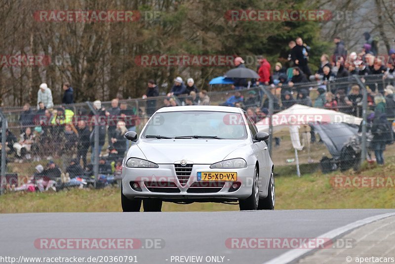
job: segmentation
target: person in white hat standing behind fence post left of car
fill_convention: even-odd
[[[100,154],[101,149],[104,146],[105,140],[106,140],[106,122],[101,122],[100,119],[103,119],[106,116],[106,109],[102,108],[102,102],[100,100],[96,100],[93,102],[93,108],[96,111],[97,116],[95,117],[95,119],[97,119],[96,122],[94,122],[94,126],[99,126],[99,150],[98,153]],[[90,116],[94,116],[94,113],[91,112]],[[109,135],[109,137],[111,138],[111,135]],[[96,151],[95,151],[95,128],[92,129],[92,132],[90,133],[90,146],[91,146],[91,150],[92,150],[92,155],[91,155],[91,162],[92,164],[95,161],[95,155],[96,155]]]

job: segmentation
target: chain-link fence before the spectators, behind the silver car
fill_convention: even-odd
[[[395,153],[393,88],[386,89],[392,81],[351,76],[52,109],[1,108],[1,192],[116,185],[131,144],[124,133],[140,132],[156,110],[176,105],[245,109],[260,131],[271,134],[271,156],[282,173],[347,170],[365,158],[383,163],[386,148],[386,155]]]

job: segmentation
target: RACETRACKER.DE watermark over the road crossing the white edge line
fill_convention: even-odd
[[[353,238],[325,237],[231,237],[225,240],[229,249],[350,249]]]

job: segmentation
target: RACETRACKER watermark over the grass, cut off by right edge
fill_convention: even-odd
[[[395,177],[333,176],[329,183],[334,188],[393,188]]]

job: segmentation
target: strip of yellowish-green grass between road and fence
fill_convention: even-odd
[[[314,172],[297,177],[293,168],[277,168],[276,209],[337,209],[337,208],[394,208],[395,192],[384,188],[335,188],[329,180],[333,176],[393,176],[395,159],[387,165],[364,164],[361,171],[339,171],[323,175]],[[291,169],[290,169],[291,168]],[[309,171],[309,168],[304,168]],[[178,205],[164,203],[162,211],[225,211],[238,210],[237,205],[194,203]],[[117,188],[72,189],[46,193],[7,193],[0,196],[0,213],[28,212],[120,212]]]

